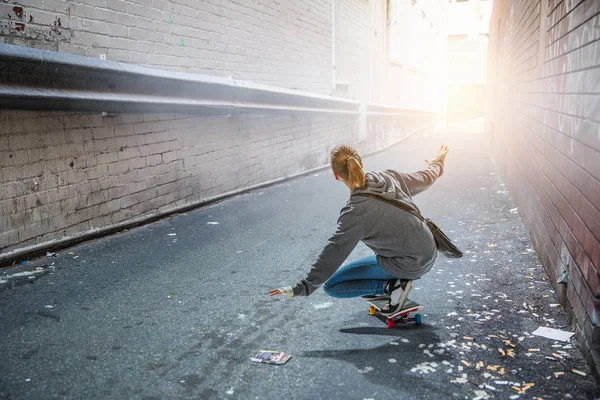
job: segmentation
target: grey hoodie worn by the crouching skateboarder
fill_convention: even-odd
[[[391,169],[366,174],[367,183],[352,190],[342,208],[337,229],[321,251],[308,276],[293,287],[294,296],[308,296],[342,265],[359,241],[377,255],[377,262],[391,275],[416,279],[435,263],[437,249],[429,228],[417,217],[383,201],[357,193],[376,194],[419,211],[412,197],[421,193],[444,172],[441,162],[423,171],[404,173]]]

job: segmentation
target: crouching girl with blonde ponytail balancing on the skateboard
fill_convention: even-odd
[[[442,175],[447,153],[448,147],[441,146],[422,171],[404,173],[388,169],[365,174],[356,150],[346,145],[335,147],[330,155],[333,176],[350,189],[350,199],[342,208],[337,229],[305,279],[293,287],[271,290],[269,295],[309,296],[323,285],[325,293],[332,297],[389,299],[383,315],[400,311],[410,290],[407,284],[423,276],[435,263],[437,248],[433,235],[414,215],[384,201],[356,194],[381,196],[420,213],[412,198]],[[375,254],[339,268],[359,241]]]

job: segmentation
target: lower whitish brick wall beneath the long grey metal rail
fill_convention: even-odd
[[[378,129],[381,123],[373,121],[361,151],[426,121],[401,120],[403,132]],[[348,116],[3,112],[0,252],[324,165],[334,145],[354,143],[356,124]]]

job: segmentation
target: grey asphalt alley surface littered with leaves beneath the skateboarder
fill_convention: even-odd
[[[411,171],[450,146],[445,175],[416,200],[466,254],[415,283],[422,325],[388,329],[361,300],[322,290],[268,297],[335,229],[348,191],[327,171],[0,271],[0,398],[594,398],[577,343],[531,334],[569,330],[566,313],[484,136],[467,128],[364,160]],[[361,244],[349,259],[368,254]],[[260,349],[292,359],[250,362]]]

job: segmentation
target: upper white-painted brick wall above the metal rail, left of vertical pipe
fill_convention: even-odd
[[[0,4],[0,38],[331,93],[331,0],[18,0]]]

